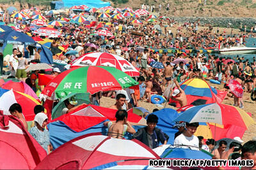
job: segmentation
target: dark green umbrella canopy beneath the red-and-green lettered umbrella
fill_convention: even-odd
[[[54,118],[58,118],[60,117],[61,115],[63,115],[62,113],[62,110],[64,108],[67,108],[67,106],[65,105],[64,101],[69,99],[69,98],[72,98],[74,99],[75,101],[77,101],[77,104],[76,106],[80,105],[80,104],[83,104],[83,103],[86,103],[86,104],[89,104],[91,103],[90,102],[90,94],[88,93],[79,93],[79,94],[68,94],[68,96],[66,97],[63,97],[59,103],[54,106],[53,110],[52,110],[52,120]]]

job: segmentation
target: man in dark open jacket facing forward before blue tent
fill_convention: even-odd
[[[156,127],[158,123],[158,117],[154,114],[150,114],[147,117],[147,127],[138,129],[138,131],[133,135],[133,138],[138,139],[151,149],[157,148],[161,142],[166,145],[169,137],[164,134],[161,129]]]

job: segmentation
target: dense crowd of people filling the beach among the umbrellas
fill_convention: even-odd
[[[206,1],[205,1],[206,2]],[[148,6],[143,8],[149,8]],[[159,6],[160,8],[160,6]],[[169,8],[167,5],[166,8]],[[152,6],[154,11],[154,6]],[[72,14],[72,10],[68,15]],[[68,17],[63,15],[61,17]],[[95,21],[90,26],[81,24],[65,23],[63,26],[55,26],[61,32],[61,36],[51,39],[50,50],[53,59],[63,60],[70,65],[72,60],[89,52],[108,52],[124,57],[131,64],[138,68],[140,76],[136,78],[140,89],[122,89],[109,92],[98,92],[91,96],[92,103],[100,105],[102,96],[113,97],[116,103],[109,108],[118,110],[116,112],[115,122],[105,122],[108,127],[108,136],[113,138],[124,138],[125,132],[133,134],[133,138],[138,139],[150,148],[156,148],[165,145],[169,138],[174,138],[174,146],[183,148],[191,148],[194,150],[206,150],[212,153],[215,159],[254,159],[256,161],[256,141],[248,141],[243,146],[239,140],[229,145],[226,141],[220,141],[217,149],[214,139],[197,138],[194,134],[198,127],[198,123],[180,123],[177,125],[179,132],[175,136],[166,135],[161,129],[156,127],[158,117],[153,114],[143,115],[147,118],[147,126],[139,129],[137,132],[127,121],[127,111],[130,108],[139,106],[139,101],[151,102],[152,94],[163,95],[165,90],[170,90],[170,96],[174,101],[178,101],[180,106],[186,106],[187,99],[184,90],[180,88],[180,82],[189,78],[200,78],[202,80],[217,80],[223,85],[223,91],[228,91],[227,97],[234,98],[234,105],[243,108],[243,97],[236,97],[230,92],[227,85],[229,80],[237,80],[244,92],[252,93],[254,98],[256,87],[256,60],[245,60],[243,57],[234,56],[233,58],[219,56],[209,52],[201,53],[198,50],[207,48],[218,48],[218,46],[234,46],[246,43],[248,34],[239,32],[238,34],[227,35],[226,32],[216,32],[212,27],[204,27],[199,29],[200,20],[196,22],[187,22],[179,24],[172,19],[158,20],[157,22],[146,22],[147,17],[141,17],[142,24],[132,24],[134,18],[127,17],[123,20],[108,18],[107,22],[111,24],[105,25],[102,18],[97,18],[99,13],[88,13],[95,17]],[[60,18],[59,15],[51,15],[49,21]],[[31,30],[29,22],[22,22],[16,18],[8,18],[6,22],[13,22],[24,33],[30,34],[32,37],[45,39]],[[156,29],[159,25],[160,29]],[[112,37],[92,35],[98,29],[107,29],[113,33]],[[158,27],[158,26],[157,26]],[[65,29],[64,29],[65,28]],[[173,28],[177,28],[173,31]],[[87,46],[85,44],[93,43],[95,46]],[[0,54],[3,57],[3,44],[0,44]],[[65,50],[60,52],[59,46]],[[172,48],[177,51],[170,54],[166,50],[159,53],[156,49]],[[193,49],[195,53],[191,53],[188,49]],[[75,50],[77,55],[65,55],[69,50]],[[25,57],[25,51],[29,56]],[[38,85],[38,73],[44,71],[33,71],[26,73],[25,69],[30,63],[40,62],[41,48],[34,46],[13,45],[13,53],[9,60],[3,62],[4,66],[9,69],[4,70],[4,74],[8,78],[19,78],[26,81],[28,85],[35,91],[42,91],[44,87]],[[175,62],[175,60],[180,60]],[[151,62],[159,62],[163,68],[151,67]],[[67,67],[68,69],[68,67]],[[3,67],[1,67],[3,73]],[[58,76],[61,71],[58,68],[52,70],[52,74]],[[172,83],[173,82],[173,83]],[[170,85],[172,85],[170,87]],[[177,87],[174,89],[174,87]],[[63,114],[73,111],[77,108],[75,100],[65,101],[66,108]],[[42,145],[47,151],[51,152],[51,143],[49,141],[49,132],[45,129],[47,124],[47,116],[44,108],[37,106],[35,108],[35,124],[28,127],[26,120],[22,117],[22,108],[19,104],[13,104],[10,107],[10,113],[15,115],[24,124],[26,129],[30,129],[31,135]],[[38,111],[39,110],[39,111]],[[226,148],[228,147],[228,150]],[[255,163],[256,165],[256,163]]]

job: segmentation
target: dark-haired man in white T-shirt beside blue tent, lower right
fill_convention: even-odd
[[[178,146],[179,148],[190,148],[191,150],[199,150],[199,140],[194,135],[198,122],[189,124],[186,122],[186,130],[174,139],[173,146]]]

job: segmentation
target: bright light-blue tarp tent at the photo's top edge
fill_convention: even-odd
[[[64,3],[65,7],[72,7],[72,6],[79,6],[79,5],[83,5],[85,4],[86,6],[90,7],[90,8],[102,8],[105,6],[111,6],[111,4],[109,2],[103,2],[100,0],[62,0]]]

